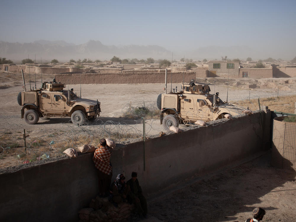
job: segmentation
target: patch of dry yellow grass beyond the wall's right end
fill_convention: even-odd
[[[296,95],[291,96],[280,96],[280,97],[269,97],[261,98],[260,105],[268,106],[268,109],[277,112],[294,113],[295,110]],[[238,104],[242,107],[249,107],[250,110],[258,110],[258,99],[245,99],[240,101],[232,101],[230,103]]]

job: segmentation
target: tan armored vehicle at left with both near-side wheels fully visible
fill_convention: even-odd
[[[20,92],[17,102],[22,106],[21,118],[28,124],[36,124],[39,117],[71,117],[74,124],[82,125],[99,116],[98,100],[79,98],[73,89],[64,88],[64,83],[53,81],[44,82],[40,89]]]

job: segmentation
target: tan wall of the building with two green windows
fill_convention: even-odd
[[[220,63],[219,69],[214,69],[213,64]],[[227,69],[227,63],[233,63],[234,69]],[[209,61],[209,71],[218,77],[238,78],[239,75],[239,62],[227,62],[227,61]]]

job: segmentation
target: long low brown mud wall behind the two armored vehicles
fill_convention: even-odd
[[[141,73],[139,73],[142,71]],[[147,72],[149,71],[149,72]],[[82,74],[56,74],[55,79],[57,82],[70,84],[82,84],[96,83],[164,83],[165,73],[151,72],[153,70],[132,70],[125,73],[82,73]],[[81,76],[82,75],[82,76]],[[169,74],[170,77],[171,74]],[[179,83],[183,81],[183,73],[173,73],[173,82]],[[170,79],[170,78],[169,78]],[[195,73],[184,73],[184,81],[190,82],[191,79],[195,79]],[[169,82],[169,81],[168,81]]]

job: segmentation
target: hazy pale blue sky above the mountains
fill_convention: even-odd
[[[296,1],[1,1],[0,40],[293,50]],[[284,52],[283,51],[283,52]],[[291,52],[290,52],[291,54]]]

